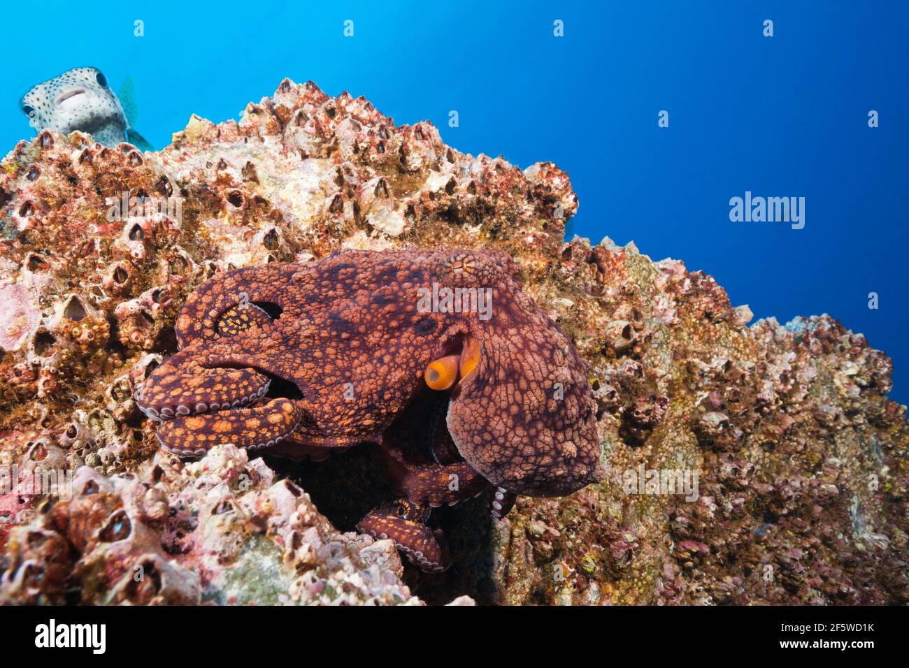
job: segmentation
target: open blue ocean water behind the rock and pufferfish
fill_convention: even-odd
[[[909,400],[907,3],[45,2],[5,25],[0,153],[34,135],[19,96],[79,65],[133,78],[157,148],[191,113],[238,117],[312,79],[462,151],[553,161],[580,199],[572,232],[682,259],[755,317],[832,314]],[[746,191],[804,197],[804,228],[731,222]]]

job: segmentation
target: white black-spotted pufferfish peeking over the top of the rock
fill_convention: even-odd
[[[130,125],[130,117],[135,122],[132,98],[129,77],[118,97],[97,67],[75,67],[33,86],[19,100],[19,107],[28,116],[29,125],[38,132],[48,128],[68,135],[81,130],[107,146],[128,142],[151,151],[153,148],[145,137]]]

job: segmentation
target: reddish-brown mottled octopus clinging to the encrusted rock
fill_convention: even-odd
[[[218,444],[316,461],[378,448],[395,498],[357,524],[425,572],[432,510],[562,496],[603,477],[588,364],[495,250],[342,250],[215,274],[136,404],[175,454]]]

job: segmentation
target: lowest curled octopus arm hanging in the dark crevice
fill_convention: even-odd
[[[426,525],[428,516],[425,505],[395,499],[367,513],[356,528],[374,538],[390,538],[425,573],[442,573],[451,565],[448,544],[440,529]]]

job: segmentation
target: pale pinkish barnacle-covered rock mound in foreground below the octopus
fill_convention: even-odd
[[[6,543],[0,603],[420,603],[391,541],[339,533],[233,445],[136,473],[83,466]]]

